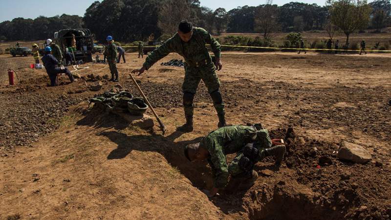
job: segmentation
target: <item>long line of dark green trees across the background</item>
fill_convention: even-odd
[[[93,2],[84,17],[63,14],[1,22],[0,40],[42,40],[60,29],[82,27],[90,29],[101,42],[107,35],[122,42],[145,41],[151,36],[165,40],[184,19],[217,35],[258,32],[269,39],[273,32],[326,30],[332,34],[342,30],[348,36],[368,27],[381,31],[390,25],[390,18],[390,0],[369,4],[365,0],[327,0],[325,6],[300,2],[278,6],[268,0],[263,5],[230,11],[212,10],[201,6],[199,0],[103,0]],[[353,21],[357,19],[360,22]]]

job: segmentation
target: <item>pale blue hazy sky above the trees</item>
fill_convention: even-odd
[[[40,15],[52,17],[56,15],[80,15],[83,16],[88,6],[95,0],[0,0],[0,22],[11,21],[14,18],[23,17],[35,19]],[[273,0],[274,4],[282,5],[290,1],[298,0]],[[305,3],[317,3],[324,5],[326,0],[299,0]],[[231,10],[238,6],[257,6],[264,4],[266,0],[200,0],[202,6],[212,9],[223,7]]]

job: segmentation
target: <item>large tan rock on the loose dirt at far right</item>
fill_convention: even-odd
[[[354,163],[367,163],[372,159],[369,152],[360,145],[344,141],[337,154],[339,159]]]

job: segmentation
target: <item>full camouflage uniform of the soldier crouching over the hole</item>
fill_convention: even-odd
[[[246,144],[254,143],[259,154],[256,161],[265,156],[264,149],[270,148],[272,142],[266,129],[257,131],[256,128],[244,125],[233,125],[219,128],[210,132],[202,139],[201,145],[209,151],[208,162],[215,176],[214,187],[221,189],[227,184],[228,176],[242,177],[245,171],[239,161],[243,157],[243,149]],[[228,165],[226,154],[238,153],[234,160]]]

